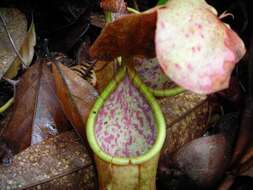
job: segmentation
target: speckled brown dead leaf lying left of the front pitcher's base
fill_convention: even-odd
[[[73,131],[30,146],[0,176],[1,190],[97,189],[92,158]]]

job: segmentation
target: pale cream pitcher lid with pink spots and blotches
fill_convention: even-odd
[[[243,41],[204,0],[168,1],[157,11],[155,36],[156,55],[166,75],[196,93],[227,88],[235,64],[245,54]]]

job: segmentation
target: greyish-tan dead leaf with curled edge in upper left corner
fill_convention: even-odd
[[[36,44],[35,27],[32,21],[27,31],[27,20],[25,15],[17,9],[1,9],[2,18],[6,23],[10,37],[22,60],[17,56],[11,44],[10,37],[4,30],[4,23],[0,22],[0,78],[14,78],[17,75],[21,63],[28,67],[34,55]]]

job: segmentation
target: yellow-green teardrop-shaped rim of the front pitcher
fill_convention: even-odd
[[[138,91],[146,99],[154,118],[153,128],[155,130],[156,137],[150,143],[150,147],[148,147],[147,150],[140,155],[136,154],[128,156],[127,154],[110,154],[108,151],[105,151],[102,148],[101,142],[98,142],[96,136],[95,126],[98,119],[99,110],[104,106],[110,95],[117,89],[118,84],[125,79],[126,73],[128,73],[129,80],[133,83],[135,88],[138,88]],[[97,98],[87,121],[86,133],[91,149],[100,159],[118,165],[140,164],[159,154],[166,137],[166,123],[159,104],[156,102],[156,99],[150,93],[148,88],[142,83],[134,70],[123,66],[115,76],[114,80],[108,84],[103,93]]]

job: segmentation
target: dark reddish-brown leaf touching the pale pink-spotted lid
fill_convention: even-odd
[[[133,14],[105,26],[90,48],[93,58],[113,60],[118,56],[155,56],[156,12]]]

